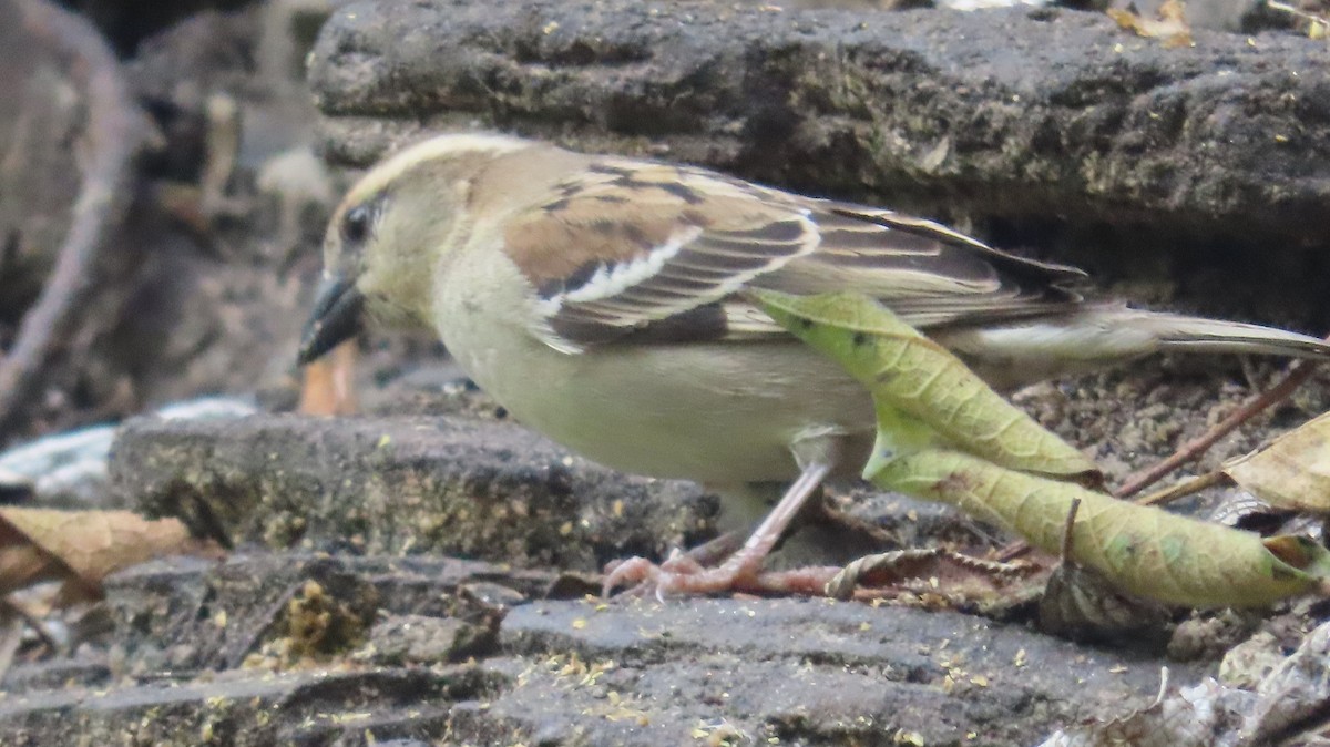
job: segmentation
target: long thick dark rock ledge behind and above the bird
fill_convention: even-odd
[[[497,128],[932,215],[1325,245],[1323,45],[1194,36],[1065,9],[368,3],[332,15],[310,80],[358,165]]]

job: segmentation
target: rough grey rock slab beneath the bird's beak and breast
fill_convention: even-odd
[[[629,477],[511,423],[456,417],[128,423],[121,500],[270,548],[440,553],[598,570],[712,530],[689,482]]]

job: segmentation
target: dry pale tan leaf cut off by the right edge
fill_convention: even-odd
[[[1330,512],[1330,412],[1229,461],[1224,473],[1273,506]]]

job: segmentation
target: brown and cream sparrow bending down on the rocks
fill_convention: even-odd
[[[701,482],[757,517],[718,565],[618,564],[606,589],[739,589],[806,500],[854,477],[868,392],[753,298],[853,291],[999,389],[1157,351],[1330,358],[1297,332],[1129,308],[1073,267],[942,223],[714,170],[443,133],[372,166],[334,211],[298,360],[364,320],[432,331],[513,417],[606,467]]]

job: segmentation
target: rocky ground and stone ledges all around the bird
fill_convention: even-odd
[[[77,54],[32,33],[37,5],[0,0],[0,90],[19,104],[0,112],[0,389],[23,380],[5,362],[80,221],[68,195],[90,177],[69,144],[101,121]],[[122,572],[102,605],[60,621],[55,649],[27,641],[3,679],[3,744],[1035,744],[1150,704],[1165,666],[1173,689],[1198,683],[1257,638],[1273,666],[1326,614],[1180,613],[1073,643],[1041,633],[1032,603],[606,602],[588,597],[604,562],[713,537],[714,497],[524,431],[428,340],[363,343],[362,416],[289,412],[340,169],[440,128],[915,210],[1085,266],[1138,303],[1323,331],[1322,41],[1193,31],[1194,47],[1169,48],[1033,7],[81,9],[150,126],[130,129],[144,138],[117,177],[124,203],[61,343],[23,396],[0,391],[0,445],[129,417],[92,489],[37,500],[177,516],[233,552]],[[1120,481],[1278,370],[1152,360],[1016,400]],[[1325,384],[1196,469],[1325,412]],[[259,412],[141,415],[217,392]],[[1003,542],[946,508],[831,498],[890,546]]]

